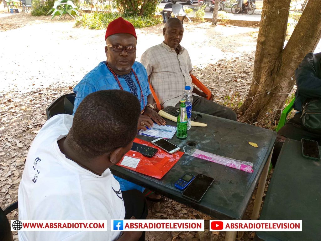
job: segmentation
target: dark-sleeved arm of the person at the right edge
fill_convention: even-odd
[[[321,98],[321,79],[317,77],[312,53],[308,53],[295,70],[295,79],[299,95]]]

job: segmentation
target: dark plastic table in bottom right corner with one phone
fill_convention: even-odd
[[[302,220],[302,232],[256,232],[261,239],[320,240],[321,161],[303,157],[300,141],[284,141],[260,220]]]

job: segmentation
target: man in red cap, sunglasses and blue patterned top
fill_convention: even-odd
[[[141,115],[138,119],[138,129],[146,130],[146,127],[153,125],[153,121],[158,125],[165,125],[165,120],[154,110],[146,69],[135,61],[137,36],[134,26],[123,18],[118,18],[108,24],[105,40],[107,61],[100,62],[74,88],[76,94],[74,113],[80,102],[90,93],[120,89],[131,92],[140,101]],[[116,176],[115,178],[120,183],[122,191],[144,190],[134,183]]]

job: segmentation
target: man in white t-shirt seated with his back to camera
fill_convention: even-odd
[[[20,220],[145,219],[138,190],[120,191],[109,167],[137,133],[140,104],[129,92],[89,94],[74,116],[49,119],[34,139],[18,191]],[[142,232],[19,231],[24,240],[145,240]]]

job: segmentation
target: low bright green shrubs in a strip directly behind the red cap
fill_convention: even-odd
[[[80,19],[76,20],[76,26],[88,27],[90,29],[103,29],[107,28],[107,25],[120,17],[118,13],[102,13],[102,12],[94,12],[94,13],[85,13],[81,16]],[[121,16],[127,21],[131,22],[135,28],[144,28],[150,27],[153,25],[157,25],[161,23],[160,18],[154,17],[140,17],[140,16]]]

